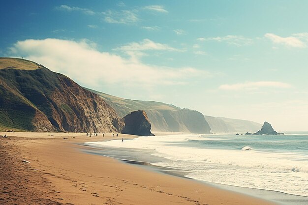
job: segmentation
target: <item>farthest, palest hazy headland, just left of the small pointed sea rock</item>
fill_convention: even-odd
[[[226,117],[212,117],[204,116],[211,127],[211,131],[214,133],[244,133],[244,132],[256,132],[261,124],[243,120],[232,119]]]

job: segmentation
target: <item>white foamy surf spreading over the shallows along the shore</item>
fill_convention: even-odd
[[[307,156],[294,152],[272,153],[253,149],[243,152],[244,148],[251,148],[248,146],[242,150],[222,150],[174,145],[196,138],[204,140],[198,135],[173,135],[138,137],[125,140],[124,143],[114,140],[87,144],[155,149],[155,156],[171,161],[154,165],[191,171],[187,175],[190,178],[308,196]],[[212,140],[211,136],[205,139]]]

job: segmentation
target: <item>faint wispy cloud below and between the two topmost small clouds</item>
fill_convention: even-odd
[[[129,10],[107,10],[102,14],[105,15],[104,21],[110,24],[134,24],[139,21],[136,13]]]

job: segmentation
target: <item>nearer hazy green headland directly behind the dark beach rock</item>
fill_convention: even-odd
[[[88,89],[101,96],[120,117],[136,110],[144,110],[152,124],[152,131],[191,132],[209,134],[211,128],[203,115],[194,110],[154,102],[129,100]]]

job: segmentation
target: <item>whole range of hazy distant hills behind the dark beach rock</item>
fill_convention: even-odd
[[[181,109],[162,102],[123,99],[92,89],[88,90],[101,96],[120,117],[139,109],[146,111],[153,131],[245,133],[255,132],[261,126],[259,123],[248,120],[212,116],[204,116],[206,121],[204,122],[201,119],[202,114],[194,110]]]

